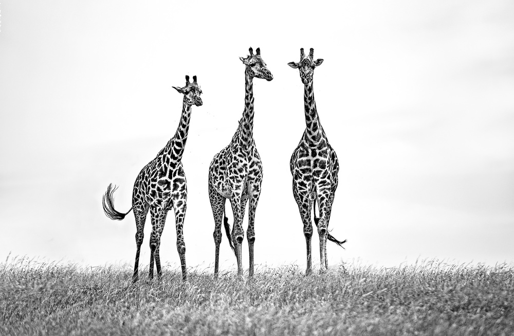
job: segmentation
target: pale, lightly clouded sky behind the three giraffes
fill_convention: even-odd
[[[134,217],[108,219],[102,194],[119,185],[116,208],[131,207],[138,172],[178,126],[172,86],[196,75],[184,234],[188,267],[212,271],[208,167],[242,115],[251,46],[274,77],[254,80],[258,270],[306,264],[289,172],[305,119],[287,63],[301,47],[324,59],[314,92],[340,163],[329,229],[348,242],[328,244],[329,263],[514,262],[512,2],[3,1],[0,14],[0,260],[132,264]],[[161,262],[178,270],[173,223]],[[148,219],[143,265],[150,231]],[[226,237],[220,260],[235,271]]]

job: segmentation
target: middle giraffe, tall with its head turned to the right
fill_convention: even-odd
[[[209,198],[212,214],[214,216],[214,243],[216,246],[214,276],[218,273],[219,244],[222,240],[222,222],[224,222],[230,247],[237,259],[237,275],[242,276],[241,245],[244,238],[243,217],[246,202],[248,206],[248,249],[250,253],[249,276],[253,276],[253,244],[255,242],[254,218],[255,209],[259,202],[262,183],[262,162],[253,139],[253,78],[263,78],[267,81],[273,79],[261,58],[261,50],[257,48],[256,54],[249,48],[250,55],[240,60],[245,68],[245,110],[239,121],[230,144],[221,152],[214,155],[209,166]],[[234,224],[230,234],[230,225],[225,214],[225,201],[230,200]]]

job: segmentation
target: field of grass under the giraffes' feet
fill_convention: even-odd
[[[234,273],[0,265],[0,335],[513,335],[514,268],[437,261],[384,269]],[[144,268],[143,270],[146,270]]]

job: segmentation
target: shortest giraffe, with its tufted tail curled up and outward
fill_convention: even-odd
[[[177,250],[182,266],[182,279],[186,281],[186,244],[182,233],[187,205],[186,175],[182,168],[182,154],[186,146],[191,119],[191,105],[202,104],[201,90],[193,76],[193,82],[186,76],[186,86],[175,87],[175,90],[184,95],[182,101],[182,115],[175,135],[168,141],[166,147],[160,150],[157,156],[141,169],[137,175],[132,194],[132,208],[126,213],[114,209],[113,194],[116,186],[109,184],[102,198],[105,215],[111,219],[122,220],[131,210],[136,218],[136,262],[134,264],[133,282],[139,278],[139,252],[143,242],[143,228],[146,214],[150,210],[152,218],[152,234],[150,236],[150,272],[149,278],[154,276],[154,260],[157,276],[161,276],[159,246],[164,222],[168,211],[175,211],[175,225],[177,230]]]

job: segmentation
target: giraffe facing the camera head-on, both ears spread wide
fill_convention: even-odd
[[[335,239],[328,231],[328,221],[332,212],[334,194],[337,188],[339,162],[332,146],[328,143],[325,131],[321,126],[313,91],[314,68],[321,65],[323,59],[314,60],[314,49],[310,48],[306,56],[300,49],[300,62],[288,65],[300,70],[300,78],[304,84],[304,104],[306,129],[293,151],[289,168],[292,174],[292,192],[295,197],[300,216],[303,221],[303,234],[307,243],[307,270],[311,273],[311,247],[313,236],[310,211],[314,205],[314,222],[318,227],[320,239],[320,273],[328,268],[326,240],[331,240],[342,247],[346,242]],[[319,205],[319,217],[316,217],[316,203]]]

